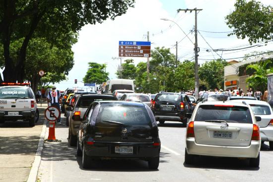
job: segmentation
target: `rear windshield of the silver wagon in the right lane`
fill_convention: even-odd
[[[248,107],[201,105],[194,121],[223,120],[235,123],[252,123]]]

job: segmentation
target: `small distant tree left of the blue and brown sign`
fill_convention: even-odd
[[[108,80],[108,74],[104,71],[106,65],[96,62],[88,62],[89,68],[83,78],[84,83],[97,83],[101,84]]]

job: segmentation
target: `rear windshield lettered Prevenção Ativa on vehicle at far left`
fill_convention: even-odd
[[[2,87],[0,88],[0,98],[31,98],[31,94],[28,88]]]

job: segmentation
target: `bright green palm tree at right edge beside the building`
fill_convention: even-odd
[[[254,69],[254,74],[246,79],[249,87],[254,90],[259,89],[264,93],[268,85],[267,74],[273,72],[273,67],[269,67],[268,64],[272,64],[272,61],[261,61],[257,64],[250,64],[247,66],[247,70]]]

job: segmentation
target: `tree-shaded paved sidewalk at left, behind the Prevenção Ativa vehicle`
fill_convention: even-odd
[[[47,104],[40,106],[40,119],[34,127],[27,121],[0,124],[0,182],[27,181],[45,121]]]

